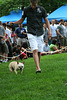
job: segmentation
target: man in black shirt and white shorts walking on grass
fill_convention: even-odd
[[[47,19],[46,10],[38,5],[38,0],[30,0],[30,6],[24,9],[22,18],[14,24],[22,23],[27,17],[27,29],[28,29],[28,39],[30,47],[33,51],[33,58],[36,64],[36,73],[41,73],[39,66],[41,52],[43,50],[43,24],[42,18],[44,18],[45,23],[48,27],[49,34],[51,35],[50,24]],[[12,22],[10,22],[11,24]]]

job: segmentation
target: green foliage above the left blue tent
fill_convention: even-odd
[[[3,0],[0,2],[0,16],[8,15],[12,10],[17,10],[22,6],[29,5],[29,0]]]

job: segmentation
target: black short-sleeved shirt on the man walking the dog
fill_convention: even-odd
[[[43,34],[42,18],[47,17],[46,10],[37,5],[36,9],[32,9],[31,6],[27,7],[23,11],[22,18],[27,17],[27,30],[28,33],[41,36]]]

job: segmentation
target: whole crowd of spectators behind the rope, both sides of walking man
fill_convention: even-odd
[[[67,46],[67,22],[64,22],[63,19],[60,22],[51,20],[50,27],[52,36],[49,36],[47,25],[43,24],[43,51],[41,55],[65,52],[65,49],[60,49]],[[15,28],[13,25],[0,21],[0,55],[0,62],[33,57],[27,38],[27,30],[23,24],[19,24]]]

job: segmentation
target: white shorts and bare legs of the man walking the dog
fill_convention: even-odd
[[[33,51],[33,58],[34,62],[36,64],[36,72],[41,72],[39,63],[40,63],[40,57],[43,48],[43,36],[34,36],[32,34],[28,34],[28,39],[30,43],[31,50]]]

